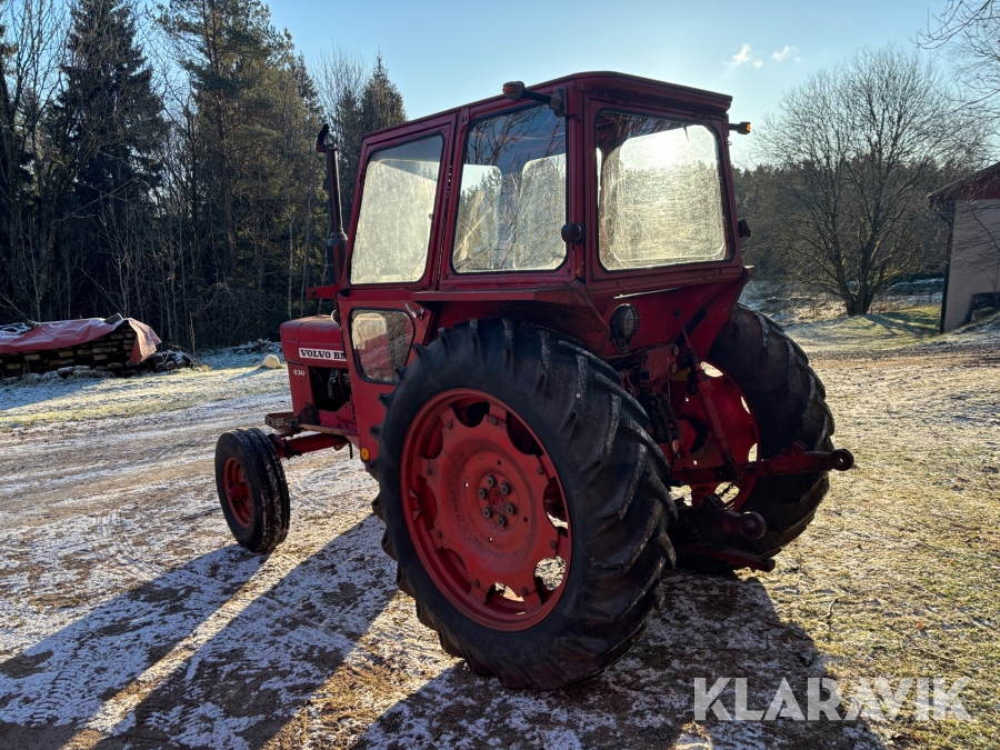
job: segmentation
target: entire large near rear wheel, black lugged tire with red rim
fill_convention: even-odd
[[[470,321],[384,399],[374,510],[400,588],[442,647],[516,688],[623,656],[672,564],[668,467],[599,359],[548,331]]]

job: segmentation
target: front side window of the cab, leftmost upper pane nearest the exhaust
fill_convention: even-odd
[[[433,136],[369,157],[351,283],[406,283],[423,277],[443,147],[444,139]]]

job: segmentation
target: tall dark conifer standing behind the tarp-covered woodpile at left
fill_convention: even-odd
[[[133,13],[121,0],[71,8],[66,86],[53,117],[71,178],[62,254],[78,258],[97,282],[81,290],[97,314],[109,302],[127,314],[140,302],[149,197],[162,172],[163,103],[136,42]]]

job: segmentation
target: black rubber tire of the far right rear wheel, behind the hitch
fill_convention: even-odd
[[[806,352],[778,323],[742,306],[716,338],[708,356],[742,390],[760,434],[758,458],[773,458],[799,441],[807,450],[833,450],[833,416],[827,391]],[[702,532],[698,543],[771,558],[799,537],[830,488],[826,471],[760,477],[741,512],[760,513],[767,532],[757,540]],[[678,540],[680,541],[680,540]],[[732,566],[680,549],[678,564],[718,572]]]

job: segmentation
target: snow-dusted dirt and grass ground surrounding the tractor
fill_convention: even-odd
[[[376,486],[346,451],[287,464],[292,530],[277,552],[232,543],[212,447],[282,407],[283,374],[208,406],[0,432],[0,747],[991,747],[998,359],[817,358],[858,468],[806,537],[761,578],[671,574],[632,652],[547,694],[440,651],[396,590]],[[884,723],[694,722],[693,680],[730,676],[761,709],[786,678],[803,711],[811,677],[850,691],[859,677],[969,676],[973,721],[904,706]],[[732,710],[731,686],[722,697]]]

